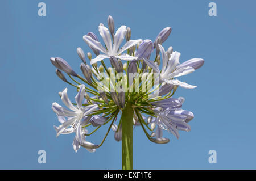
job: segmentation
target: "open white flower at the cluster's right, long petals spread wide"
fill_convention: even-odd
[[[168,58],[167,53],[165,52],[164,48],[160,44],[159,44],[159,49],[162,54],[162,60],[163,60],[163,67],[161,71],[159,70],[158,65],[156,65],[153,61],[143,58],[148,66],[150,66],[153,70],[159,73],[160,75],[159,81],[163,81],[171,85],[177,85],[187,89],[195,88],[196,86],[192,86],[192,85],[189,85],[188,83],[181,82],[178,79],[174,79],[176,77],[180,77],[182,75],[187,75],[189,73],[192,73],[193,71],[195,71],[195,69],[193,69],[191,66],[186,66],[186,67],[179,66],[179,59],[180,59],[179,52],[173,52],[171,54],[171,57]]]

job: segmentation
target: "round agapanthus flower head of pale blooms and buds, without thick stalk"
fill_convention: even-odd
[[[119,122],[117,118],[127,105],[133,110],[133,120],[130,121],[133,121],[134,127],[141,126],[152,142],[166,144],[170,141],[163,137],[163,130],[170,131],[177,138],[179,130],[190,131],[188,122],[194,115],[181,108],[184,98],[176,99],[173,96],[177,87],[196,87],[177,78],[199,69],[204,60],[192,58],[180,63],[179,52],[173,51],[172,47],[165,50],[163,43],[171,33],[170,27],[160,31],[154,42],[148,39],[131,40],[131,29],[126,26],[115,31],[112,16],[108,17],[108,27],[102,23],[98,26],[104,44],[100,43],[93,32],[83,37],[95,54],[92,58],[92,53],[87,53],[89,62],[86,62],[84,51],[77,48],[77,54],[82,60],[80,69],[83,77],[63,58],[50,59],[57,68],[57,76],[77,90],[75,102],[69,99],[67,88],[59,92],[67,108],[57,103],[52,104],[52,110],[61,124],[59,127],[54,126],[57,136],[75,133],[75,151],[82,146],[94,152],[103,144],[110,129],[115,132],[115,140],[121,141],[124,118],[121,116]],[[126,43],[121,46],[124,39]],[[111,65],[109,68],[106,61]],[[64,73],[73,82],[68,81]],[[85,139],[108,123],[109,129],[101,144],[93,144]],[[94,127],[90,133],[89,127]]]

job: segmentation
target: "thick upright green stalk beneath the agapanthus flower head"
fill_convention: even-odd
[[[133,169],[133,107],[126,104],[122,112],[122,169]]]

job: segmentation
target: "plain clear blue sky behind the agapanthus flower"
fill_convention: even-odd
[[[256,169],[255,128],[255,1],[49,1],[46,16],[38,16],[41,1],[1,1],[1,149],[0,169],[121,169],[121,142],[110,132],[104,145],[89,153],[73,151],[74,134],[56,138],[59,125],[52,102],[57,92],[73,87],[55,74],[50,57],[63,57],[80,73],[76,48],[90,49],[87,32],[99,36],[98,24],[112,15],[115,28],[131,28],[132,39],[155,40],[162,28],[172,33],[163,43],[181,52],[181,62],[204,58],[203,68],[182,77],[197,85],[179,88],[183,108],[195,114],[191,132],[172,134],[166,145],[134,131],[134,169]],[[210,2],[217,16],[209,16]],[[117,29],[116,29],[117,30]],[[107,128],[92,142],[100,142]],[[217,151],[217,163],[208,151]],[[46,150],[46,164],[38,163]]]

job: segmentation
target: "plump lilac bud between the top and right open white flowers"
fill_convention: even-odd
[[[136,52],[136,56],[138,57],[137,60],[142,60],[142,58],[148,58],[153,50],[153,42],[151,40],[143,40]]]

